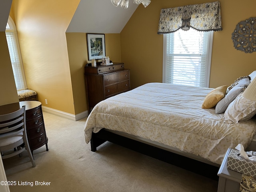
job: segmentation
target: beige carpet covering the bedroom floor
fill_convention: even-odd
[[[49,151],[3,160],[11,192],[216,192],[218,182],[107,142],[97,152],[84,142],[86,119],[44,112]],[[207,171],[207,170],[206,170]],[[18,185],[18,184],[28,185]],[[36,186],[36,182],[50,182]],[[33,185],[33,186],[31,186]]]

